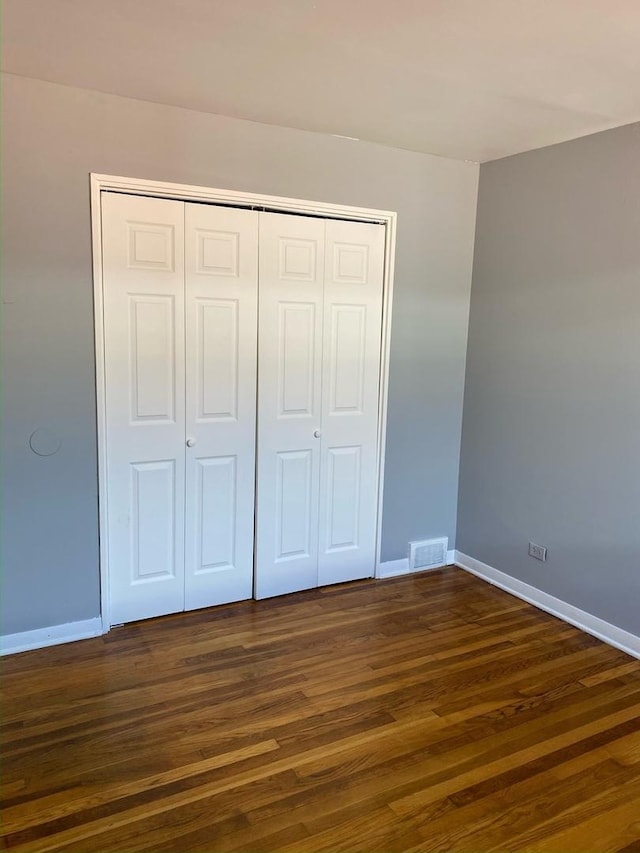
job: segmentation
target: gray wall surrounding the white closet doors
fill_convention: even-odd
[[[3,83],[3,633],[99,612],[92,171],[398,211],[382,558],[453,547],[478,167]],[[29,449],[38,427],[58,453]]]

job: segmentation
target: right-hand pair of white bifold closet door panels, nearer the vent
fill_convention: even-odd
[[[260,218],[257,598],[373,574],[384,228]]]

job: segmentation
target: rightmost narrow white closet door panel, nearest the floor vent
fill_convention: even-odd
[[[328,220],[319,585],[375,568],[384,227]]]

